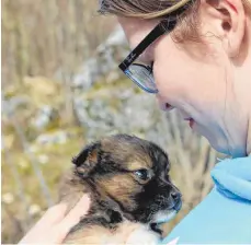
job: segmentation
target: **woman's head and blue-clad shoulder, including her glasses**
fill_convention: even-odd
[[[232,156],[163,243],[251,243],[251,0],[102,0],[100,11],[117,15],[134,49],[125,74]]]

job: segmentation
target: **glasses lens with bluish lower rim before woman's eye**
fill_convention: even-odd
[[[150,68],[139,63],[132,63],[125,73],[142,90],[149,93],[158,93]]]

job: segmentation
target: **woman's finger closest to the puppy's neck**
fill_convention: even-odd
[[[81,217],[88,213],[90,207],[90,198],[84,195],[79,202],[69,211],[69,213],[61,221],[64,230],[69,231],[73,228],[81,219]]]

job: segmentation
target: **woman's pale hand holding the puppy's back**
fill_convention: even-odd
[[[49,208],[19,244],[60,244],[80,218],[85,215],[90,206],[88,196],[66,214],[67,205],[59,203]]]

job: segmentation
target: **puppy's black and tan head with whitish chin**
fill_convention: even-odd
[[[80,178],[130,221],[163,223],[181,208],[168,156],[149,141],[127,135],[107,137],[83,149],[73,163]]]

